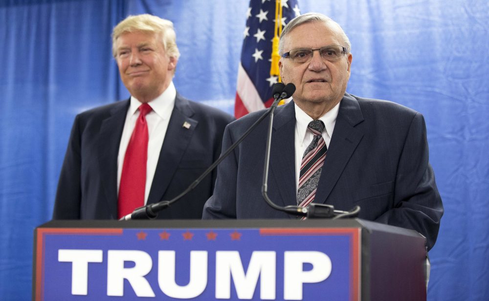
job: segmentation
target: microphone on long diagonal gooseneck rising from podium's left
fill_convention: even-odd
[[[289,86],[291,85],[291,86]],[[187,189],[185,189],[181,194],[178,194],[176,197],[174,197],[171,200],[160,200],[157,203],[153,204],[148,204],[139,208],[134,209],[134,211],[128,215],[125,215],[121,217],[119,220],[131,220],[131,219],[154,219],[156,216],[158,216],[158,212],[164,210],[167,207],[170,207],[173,203],[178,201],[181,197],[183,197],[185,194],[188,194],[192,189],[194,189],[199,183],[207,176],[210,172],[212,172],[218,165],[219,163],[222,162],[230,153],[233,151],[243,140],[246,138],[253,129],[255,129],[258,124],[265,119],[265,117],[270,114],[272,110],[275,110],[277,107],[278,103],[285,98],[289,98],[292,96],[292,94],[295,91],[295,86],[293,84],[289,84],[285,86],[283,83],[277,83],[273,85],[272,88],[272,94],[274,101],[270,108],[267,109],[266,112],[263,113],[260,118],[258,118],[250,127],[247,129],[243,135],[235,142],[233,143],[226,151],[224,151],[221,156],[211,164],[192,184],[190,184]]]

